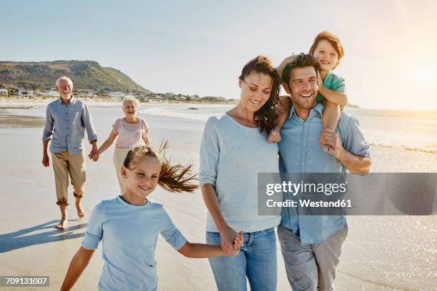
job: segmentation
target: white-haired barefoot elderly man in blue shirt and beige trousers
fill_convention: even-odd
[[[76,210],[79,218],[85,217],[81,198],[84,197],[85,160],[84,160],[84,130],[92,145],[89,158],[97,153],[97,135],[94,130],[91,114],[84,101],[72,96],[73,82],[70,78],[61,77],[56,81],[59,99],[47,106],[46,126],[43,133],[44,167],[49,167],[47,148],[51,140],[50,151],[56,184],[56,204],[61,209],[61,222],[57,228],[67,227],[68,215],[66,207],[69,205],[68,188],[69,175],[76,198]]]

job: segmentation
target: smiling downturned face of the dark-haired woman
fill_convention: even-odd
[[[249,73],[238,81],[241,88],[241,104],[250,112],[258,111],[270,98],[272,80],[264,73]]]

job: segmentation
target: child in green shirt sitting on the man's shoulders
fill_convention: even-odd
[[[318,70],[318,96],[316,101],[323,102],[325,105],[322,116],[323,127],[331,128],[335,131],[338,119],[340,118],[340,108],[343,108],[348,103],[344,79],[332,73],[344,56],[343,46],[337,36],[328,31],[323,31],[314,39],[309,53],[316,58],[320,66]],[[293,58],[294,56],[289,56],[278,66],[278,73],[281,76],[283,69],[288,63],[293,61]],[[290,113],[290,106],[287,103],[281,105],[283,108],[280,108],[279,124],[268,136],[268,141],[272,143],[281,141],[279,131]],[[328,151],[330,149],[323,147],[323,150]]]

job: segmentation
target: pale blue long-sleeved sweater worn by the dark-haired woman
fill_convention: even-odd
[[[278,145],[267,133],[228,116],[206,121],[200,150],[200,183],[215,187],[226,223],[237,232],[276,227],[281,215],[258,215],[258,173],[278,173]],[[206,230],[218,232],[208,213]]]

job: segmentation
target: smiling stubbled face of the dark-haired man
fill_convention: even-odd
[[[288,88],[293,106],[296,110],[309,110],[316,106],[318,93],[317,74],[313,66],[304,68],[293,68],[290,75]]]

